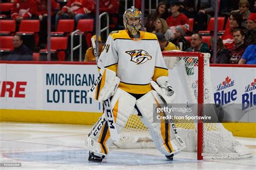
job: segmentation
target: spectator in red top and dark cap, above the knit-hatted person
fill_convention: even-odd
[[[170,10],[172,15],[166,19],[168,26],[189,24],[187,16],[180,12],[180,2],[172,1],[170,4]]]

